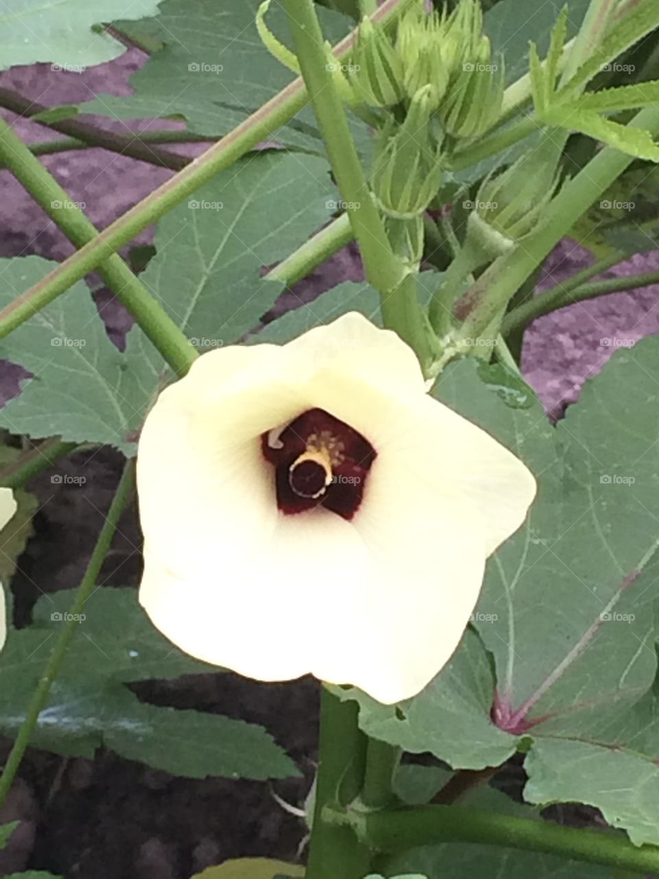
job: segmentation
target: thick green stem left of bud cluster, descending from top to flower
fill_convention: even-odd
[[[282,5],[329,163],[342,199],[351,206],[346,213],[359,246],[366,280],[380,293],[382,321],[414,348],[422,363],[428,362],[431,350],[416,299],[416,285],[407,280],[408,272],[392,250],[371,196],[343,102],[324,62],[315,6],[312,0],[282,0]]]

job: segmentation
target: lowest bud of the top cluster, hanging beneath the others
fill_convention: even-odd
[[[437,194],[440,144],[431,132],[429,85],[416,92],[405,121],[389,120],[375,142],[373,194],[384,214],[408,220],[423,214]]]

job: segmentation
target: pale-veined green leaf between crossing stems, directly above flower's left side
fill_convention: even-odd
[[[304,243],[329,219],[335,197],[322,158],[247,157],[163,217],[158,252],[140,279],[201,349],[228,345],[281,290],[261,280],[261,266]]]

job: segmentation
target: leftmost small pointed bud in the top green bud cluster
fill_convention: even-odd
[[[387,34],[370,18],[359,25],[351,84],[355,96],[369,106],[394,106],[403,97],[401,61]]]

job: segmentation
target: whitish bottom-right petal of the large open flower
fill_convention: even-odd
[[[444,667],[481,591],[479,523],[467,505],[447,508],[443,499],[422,479],[401,480],[376,460],[354,519],[372,570],[358,641],[364,661],[351,682],[384,704],[415,696]]]

